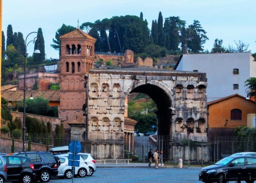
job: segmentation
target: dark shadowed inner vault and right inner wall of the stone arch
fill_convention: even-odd
[[[157,133],[158,135],[171,135],[172,133],[172,95],[173,92],[168,90],[160,83],[139,84],[130,88],[128,93],[144,93],[150,96],[157,106]]]

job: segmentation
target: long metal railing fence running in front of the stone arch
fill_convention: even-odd
[[[26,150],[46,150],[52,147],[66,146],[71,140],[82,144],[82,152],[90,152],[96,160],[132,159],[133,162],[147,162],[150,149],[163,150],[164,164],[178,164],[182,158],[185,165],[210,165],[225,156],[236,152],[256,151],[256,137],[204,137],[173,138],[170,136],[133,137],[120,134],[89,134],[71,136],[70,134],[30,134],[26,136]],[[0,152],[22,151],[23,141],[20,135],[1,135]]]

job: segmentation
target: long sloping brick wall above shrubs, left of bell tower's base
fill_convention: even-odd
[[[11,112],[12,118],[15,119],[16,117],[23,121],[23,113],[20,112]],[[39,121],[44,121],[45,124],[49,121],[52,124],[52,130],[55,130],[56,124],[60,125],[60,118],[53,118],[53,117],[47,117],[47,116],[39,116],[34,114],[26,114],[26,116],[30,118],[36,118]]]

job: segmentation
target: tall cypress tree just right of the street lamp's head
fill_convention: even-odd
[[[44,40],[44,36],[42,35],[42,29],[39,28],[37,31],[38,34],[40,34],[41,36],[39,36],[37,34],[37,40],[40,40],[39,42],[39,50],[40,50],[40,54],[34,54],[33,58],[34,58],[34,63],[41,63],[42,61],[44,61],[46,59],[46,54],[45,54],[45,40]],[[36,44],[34,49],[36,49]]]

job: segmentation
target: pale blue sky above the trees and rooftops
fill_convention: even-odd
[[[256,53],[255,0],[3,0],[3,31],[9,24],[13,32],[23,33],[24,39],[31,32],[42,29],[47,59],[58,58],[58,51],[51,47],[56,31],[64,23],[77,27],[83,22],[111,18],[113,16],[136,15],[143,18],[151,29],[152,20],[158,19],[161,11],[163,18],[179,16],[186,25],[200,21],[209,40],[203,45],[209,51],[215,39],[222,39],[223,46],[235,46],[242,40],[249,44],[248,50]],[[28,41],[35,35],[30,35]],[[27,41],[27,42],[28,42]],[[32,43],[27,47],[28,54],[33,53]]]

